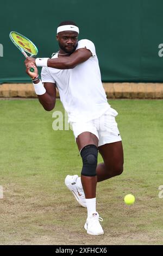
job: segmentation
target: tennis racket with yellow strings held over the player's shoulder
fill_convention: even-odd
[[[26,36],[21,35],[20,33],[17,33],[15,31],[11,31],[9,36],[13,44],[18,48],[18,50],[23,53],[26,58],[28,57],[27,53],[30,57],[34,57],[37,55],[37,47],[33,44],[32,41],[26,38]],[[30,68],[29,70],[30,72],[35,71],[34,68]]]

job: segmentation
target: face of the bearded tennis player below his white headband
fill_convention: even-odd
[[[73,53],[78,44],[78,33],[75,31],[62,31],[58,33],[57,40],[61,50],[65,53]]]

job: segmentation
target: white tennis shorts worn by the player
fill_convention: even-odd
[[[101,117],[90,121],[71,122],[75,139],[83,132],[91,132],[98,138],[98,147],[107,144],[122,141],[117,127],[115,117],[117,111],[109,108]]]

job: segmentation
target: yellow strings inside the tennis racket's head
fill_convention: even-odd
[[[37,49],[35,45],[33,45],[33,43],[29,41],[27,38],[24,38],[22,35],[16,34],[15,32],[13,32],[11,36],[16,42],[16,44],[22,47],[24,51],[32,55],[37,54]]]

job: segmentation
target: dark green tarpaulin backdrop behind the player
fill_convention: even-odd
[[[79,40],[95,43],[104,82],[163,82],[163,57],[158,54],[162,0],[10,0],[1,1],[0,8],[0,83],[30,81],[10,31],[34,41],[39,57],[51,57],[58,51],[57,26],[64,20],[77,23]]]

